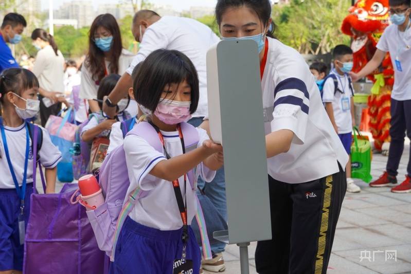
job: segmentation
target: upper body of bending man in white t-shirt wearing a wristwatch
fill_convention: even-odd
[[[193,117],[207,115],[207,75],[206,54],[210,46],[220,41],[218,36],[206,25],[185,17],[164,16],[156,12],[141,10],[134,15],[132,32],[140,48],[129,69],[118,81],[113,92],[103,105],[108,116],[115,115],[115,105],[128,94],[132,86],[133,68],[144,61],[156,49],[178,50],[193,62],[200,80],[200,101]],[[111,107],[110,107],[111,106]]]

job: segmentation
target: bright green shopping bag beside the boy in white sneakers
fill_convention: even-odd
[[[357,127],[353,127],[354,142],[351,145],[351,178],[370,182],[371,176],[371,143],[367,136],[361,135]]]

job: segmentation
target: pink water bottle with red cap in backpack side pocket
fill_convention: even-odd
[[[80,195],[73,202],[73,197],[76,196],[77,192],[80,192]],[[77,203],[80,203],[87,210],[94,210],[104,204],[102,190],[98,185],[96,177],[93,175],[84,175],[79,179],[79,189],[72,196],[72,204]]]

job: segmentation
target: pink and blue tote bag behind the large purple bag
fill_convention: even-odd
[[[61,182],[73,181],[73,155],[70,149],[73,147],[77,125],[74,121],[73,108],[67,109],[64,118],[50,115],[46,123],[46,130],[50,134],[51,142],[59,148],[62,160],[57,165],[57,178]]]

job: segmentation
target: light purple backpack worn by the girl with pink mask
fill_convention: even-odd
[[[181,129],[184,136],[186,152],[195,149],[199,142],[199,135],[195,127],[188,123],[181,123]],[[136,135],[144,138],[155,150],[164,153],[163,145],[158,138],[158,134],[150,123],[139,122],[127,136],[128,135]],[[95,210],[86,212],[88,220],[93,227],[99,248],[105,251],[113,262],[117,239],[126,217],[133,209],[137,200],[150,193],[137,187],[127,198],[126,194],[130,186],[128,174],[126,154],[123,145],[120,145],[105,158],[100,168],[99,184],[105,197],[105,203]],[[198,175],[199,173],[196,172],[196,169],[190,170],[187,173],[192,189],[196,188],[196,178],[198,178]],[[124,203],[124,201],[126,203]],[[199,203],[197,204],[199,205]],[[200,221],[204,220],[201,207],[198,208],[196,218]],[[199,223],[204,224],[204,222]],[[200,228],[200,231],[206,233],[206,228],[203,226],[202,228]],[[203,242],[205,258],[210,258],[211,251],[208,236],[205,234],[202,238],[205,240],[205,242]]]

